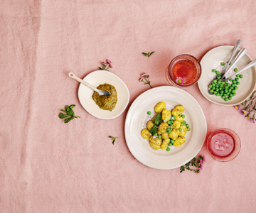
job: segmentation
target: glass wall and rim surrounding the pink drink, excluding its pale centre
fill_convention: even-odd
[[[220,156],[220,155],[216,155],[212,149],[213,149],[213,146],[211,147],[210,146],[210,141],[212,140],[212,138],[214,136],[216,136],[217,134],[219,133],[226,133],[228,134],[229,136],[231,136],[233,138],[233,141],[234,141],[234,147],[233,147],[233,151],[231,151],[230,154],[228,155],[225,155],[225,156]],[[221,141],[221,139],[220,139]],[[210,156],[214,159],[214,160],[218,160],[220,162],[228,162],[230,160],[233,160],[236,156],[238,156],[238,154],[240,153],[240,149],[241,149],[241,141],[240,141],[240,138],[238,137],[238,135],[232,131],[231,129],[216,129],[215,131],[213,131],[210,136],[208,137],[208,140],[207,140],[207,151],[208,153],[210,154]]]

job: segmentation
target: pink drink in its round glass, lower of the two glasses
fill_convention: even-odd
[[[208,153],[221,162],[233,160],[240,152],[241,142],[231,129],[217,129],[207,140]]]

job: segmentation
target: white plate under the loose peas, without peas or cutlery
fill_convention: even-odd
[[[228,45],[213,48],[208,53],[206,53],[206,55],[204,55],[201,60],[202,74],[200,80],[198,81],[198,87],[203,96],[206,97],[206,99],[208,99],[210,102],[213,102],[215,104],[220,104],[224,106],[233,106],[240,104],[244,102],[245,99],[247,99],[255,89],[256,69],[255,67],[251,67],[250,69],[247,69],[241,73],[241,75],[243,75],[243,78],[239,80],[240,84],[238,86],[238,90],[236,92],[236,95],[232,97],[232,100],[225,102],[225,100],[223,100],[221,97],[216,97],[215,95],[208,94],[208,84],[210,84],[210,82],[213,80],[213,77],[215,77],[215,73],[211,70],[223,69],[223,66],[220,65],[220,62],[227,62],[229,60],[233,48],[233,46]],[[235,65],[234,68],[242,70],[242,68],[251,61],[252,58],[250,58],[250,56],[246,54]],[[235,74],[235,72],[232,70],[232,72],[230,71],[228,73],[227,77],[230,77],[233,74]]]

